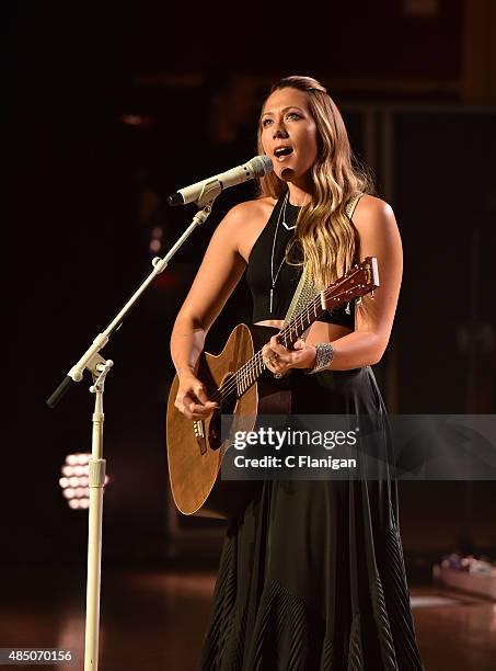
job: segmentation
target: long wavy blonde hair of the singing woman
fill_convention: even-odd
[[[326,89],[311,77],[292,76],[275,83],[269,95],[287,88],[307,93],[319,150],[311,168],[312,201],[298,216],[295,242],[299,242],[299,259],[291,253],[291,246],[286,250],[286,260],[291,265],[307,265],[315,286],[324,289],[359,260],[360,239],[346,216],[346,205],[359,193],[373,193],[372,179],[370,171],[356,160],[341,112]],[[257,151],[264,153],[261,124]],[[276,200],[287,189],[275,172],[262,178],[259,183],[262,196]]]

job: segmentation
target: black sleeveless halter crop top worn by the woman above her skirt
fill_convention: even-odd
[[[292,297],[300,280],[301,266],[289,265],[284,261],[286,247],[295,232],[295,225],[299,207],[291,205],[289,200],[284,209],[286,194],[278,200],[265,228],[258,236],[250,253],[246,282],[253,296],[253,323],[266,319],[284,319],[291,304]],[[285,215],[285,216],[282,216]],[[277,232],[276,239],[274,236]],[[270,272],[270,259],[274,262]],[[293,254],[291,254],[293,255]],[[273,292],[273,309],[270,311],[270,287],[273,276],[276,278]],[[319,321],[337,323],[355,328],[355,303],[349,304],[350,314],[346,306],[334,310],[326,310],[319,317]]]

